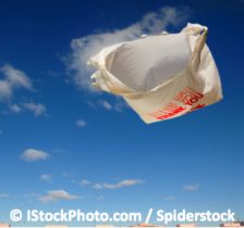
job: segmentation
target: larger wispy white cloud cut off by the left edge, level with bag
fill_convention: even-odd
[[[5,64],[0,67],[0,100],[5,101],[12,98],[13,92],[19,89],[33,90],[28,76],[12,65]]]

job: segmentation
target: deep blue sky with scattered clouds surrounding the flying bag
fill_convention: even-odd
[[[0,220],[14,207],[232,208],[244,219],[243,15],[241,0],[2,1]],[[209,27],[221,102],[145,125],[90,90],[86,58],[131,25],[148,29],[148,16],[152,33]]]

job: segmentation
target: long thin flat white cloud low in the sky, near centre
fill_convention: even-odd
[[[143,180],[139,180],[139,179],[124,179],[124,180],[121,180],[119,182],[115,182],[115,183],[95,183],[93,186],[94,189],[96,190],[100,190],[100,189],[121,189],[121,188],[124,188],[124,187],[131,187],[131,186],[136,186],[136,185],[139,185],[139,183],[143,183],[144,181]]]

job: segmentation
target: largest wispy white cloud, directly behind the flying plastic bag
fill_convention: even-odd
[[[91,55],[107,46],[133,40],[143,34],[158,34],[168,26],[179,26],[186,22],[188,15],[190,12],[186,8],[166,7],[144,15],[139,22],[125,28],[73,39],[71,41],[72,53],[65,60],[68,71],[73,75],[74,81],[80,88],[94,91],[90,87],[90,69],[86,65]]]

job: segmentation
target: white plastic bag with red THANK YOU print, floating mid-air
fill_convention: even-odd
[[[222,89],[206,45],[208,28],[187,24],[102,49],[88,61],[93,86],[122,96],[147,124],[174,118],[216,103]]]

